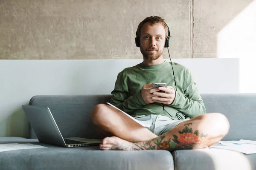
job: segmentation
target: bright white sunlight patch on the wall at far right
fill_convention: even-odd
[[[217,57],[239,58],[239,92],[256,93],[256,0],[217,34]]]

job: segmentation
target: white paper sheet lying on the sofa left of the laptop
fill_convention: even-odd
[[[20,150],[20,149],[37,149],[44,146],[35,145],[35,144],[0,144],[0,152],[10,151],[10,150]]]

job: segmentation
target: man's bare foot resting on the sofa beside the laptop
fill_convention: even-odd
[[[134,150],[134,144],[119,137],[112,136],[106,137],[102,140],[102,144],[99,144],[101,150]]]

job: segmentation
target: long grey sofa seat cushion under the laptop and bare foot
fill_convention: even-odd
[[[103,151],[98,146],[65,148],[37,139],[0,137],[0,144],[31,143],[47,148],[0,152],[0,170],[174,170],[166,150]]]

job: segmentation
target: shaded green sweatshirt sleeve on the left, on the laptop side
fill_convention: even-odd
[[[133,112],[141,108],[143,105],[146,105],[140,91],[137,91],[137,93],[134,95],[129,96],[127,77],[125,77],[122,72],[118,74],[115,88],[111,94],[112,97],[110,103],[125,113]]]

